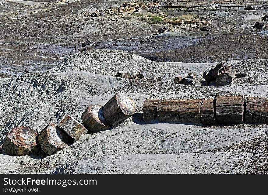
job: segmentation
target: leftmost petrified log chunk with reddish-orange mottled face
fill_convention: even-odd
[[[2,154],[25,156],[36,154],[39,144],[36,142],[37,132],[28,127],[15,127],[5,137]]]

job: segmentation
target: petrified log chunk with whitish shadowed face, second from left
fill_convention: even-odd
[[[37,139],[41,149],[48,155],[52,155],[74,142],[74,139],[53,123],[49,123],[39,133]]]

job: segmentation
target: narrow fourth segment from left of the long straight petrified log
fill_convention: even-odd
[[[200,120],[203,125],[215,125],[214,103],[216,100],[203,100],[200,110]]]

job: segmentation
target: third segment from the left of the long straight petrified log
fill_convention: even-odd
[[[179,117],[182,123],[199,124],[200,108],[203,100],[186,100],[182,102],[179,108]]]

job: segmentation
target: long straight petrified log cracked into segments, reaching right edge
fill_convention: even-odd
[[[268,99],[262,97],[221,96],[216,99],[147,99],[143,120],[185,124],[231,125],[268,124]]]

